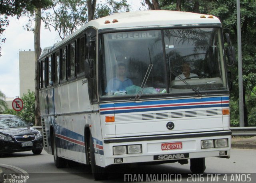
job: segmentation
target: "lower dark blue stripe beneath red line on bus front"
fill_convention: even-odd
[[[159,110],[193,109],[193,108],[209,108],[209,107],[224,107],[224,106],[229,106],[229,104],[140,108],[140,109],[130,109],[130,110],[129,109],[128,110],[111,110],[111,111],[102,111],[100,112],[100,114],[120,114],[120,113],[131,113],[131,112],[148,112],[148,111],[159,111]]]

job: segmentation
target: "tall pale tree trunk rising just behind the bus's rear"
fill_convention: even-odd
[[[36,8],[36,18],[35,18],[35,30],[34,30],[34,49],[35,49],[35,124],[36,126],[41,126],[40,117],[40,104],[39,104],[39,68],[38,59],[41,54],[40,46],[40,30],[41,30],[41,8]]]

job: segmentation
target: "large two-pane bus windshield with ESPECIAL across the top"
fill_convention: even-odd
[[[221,40],[220,28],[105,33],[100,45],[100,96],[226,90]]]

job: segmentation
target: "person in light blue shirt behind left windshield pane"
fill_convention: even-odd
[[[108,81],[105,92],[111,94],[113,92],[125,92],[126,87],[133,85],[132,80],[126,77],[126,65],[124,63],[118,63],[117,77],[114,77]]]

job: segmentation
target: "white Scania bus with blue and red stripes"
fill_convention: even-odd
[[[220,20],[174,11],[92,20],[39,59],[44,150],[56,167],[230,157],[228,65]],[[186,68],[185,68],[186,67]]]

